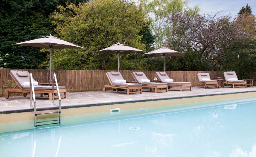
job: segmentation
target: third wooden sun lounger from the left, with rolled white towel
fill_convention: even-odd
[[[139,80],[137,80],[136,76],[134,76],[134,73],[138,73],[138,72],[133,72],[131,73],[132,74],[132,77],[135,81],[139,82]],[[143,73],[143,72],[139,72],[139,73],[142,73],[145,77],[145,79],[147,79],[146,75]],[[154,89],[155,93],[157,92],[168,92],[168,86],[166,83],[155,83],[155,84],[158,84],[158,85],[150,85],[150,84],[143,84],[142,83],[142,88],[150,88],[150,89]]]

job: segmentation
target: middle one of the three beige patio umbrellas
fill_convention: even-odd
[[[118,54],[117,69],[119,72],[119,69],[120,69],[119,54],[128,54],[128,53],[136,53],[136,52],[144,52],[144,51],[130,47],[130,46],[126,46],[124,44],[120,44],[118,42],[117,44],[114,44],[112,46],[109,46],[105,49],[102,49],[102,50],[94,52],[94,53],[117,53]]]

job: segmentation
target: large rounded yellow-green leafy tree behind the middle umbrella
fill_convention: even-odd
[[[53,18],[56,32],[62,39],[73,41],[86,49],[78,50],[81,53],[75,59],[84,64],[75,68],[106,69],[111,63],[117,67],[117,62],[114,62],[117,55],[93,53],[117,42],[144,50],[142,36],[138,34],[144,26],[146,17],[141,6],[134,2],[91,0],[79,5],[70,3],[67,7],[58,6]],[[66,54],[66,51],[58,52],[61,56]],[[57,54],[54,54],[53,58],[55,55]]]

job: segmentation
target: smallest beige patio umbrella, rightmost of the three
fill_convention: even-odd
[[[160,49],[145,53],[149,57],[164,57],[164,71],[165,71],[165,56],[183,56],[180,52],[169,49],[168,47],[162,47]]]

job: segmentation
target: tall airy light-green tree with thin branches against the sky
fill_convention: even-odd
[[[155,35],[155,47],[163,46],[168,31],[169,17],[187,6],[183,0],[140,0]]]

